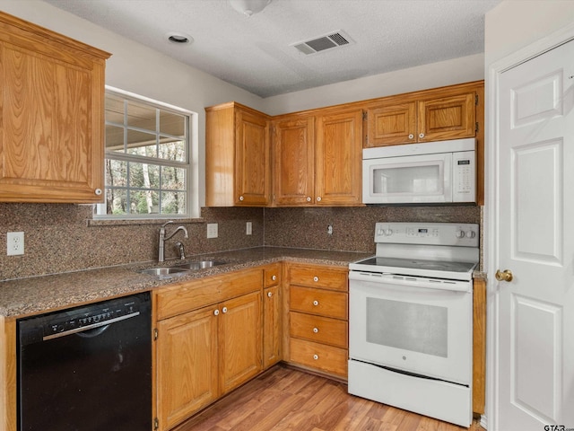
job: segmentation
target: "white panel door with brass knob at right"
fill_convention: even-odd
[[[574,428],[573,75],[570,41],[499,78],[495,255],[513,274],[492,280],[501,431]]]

